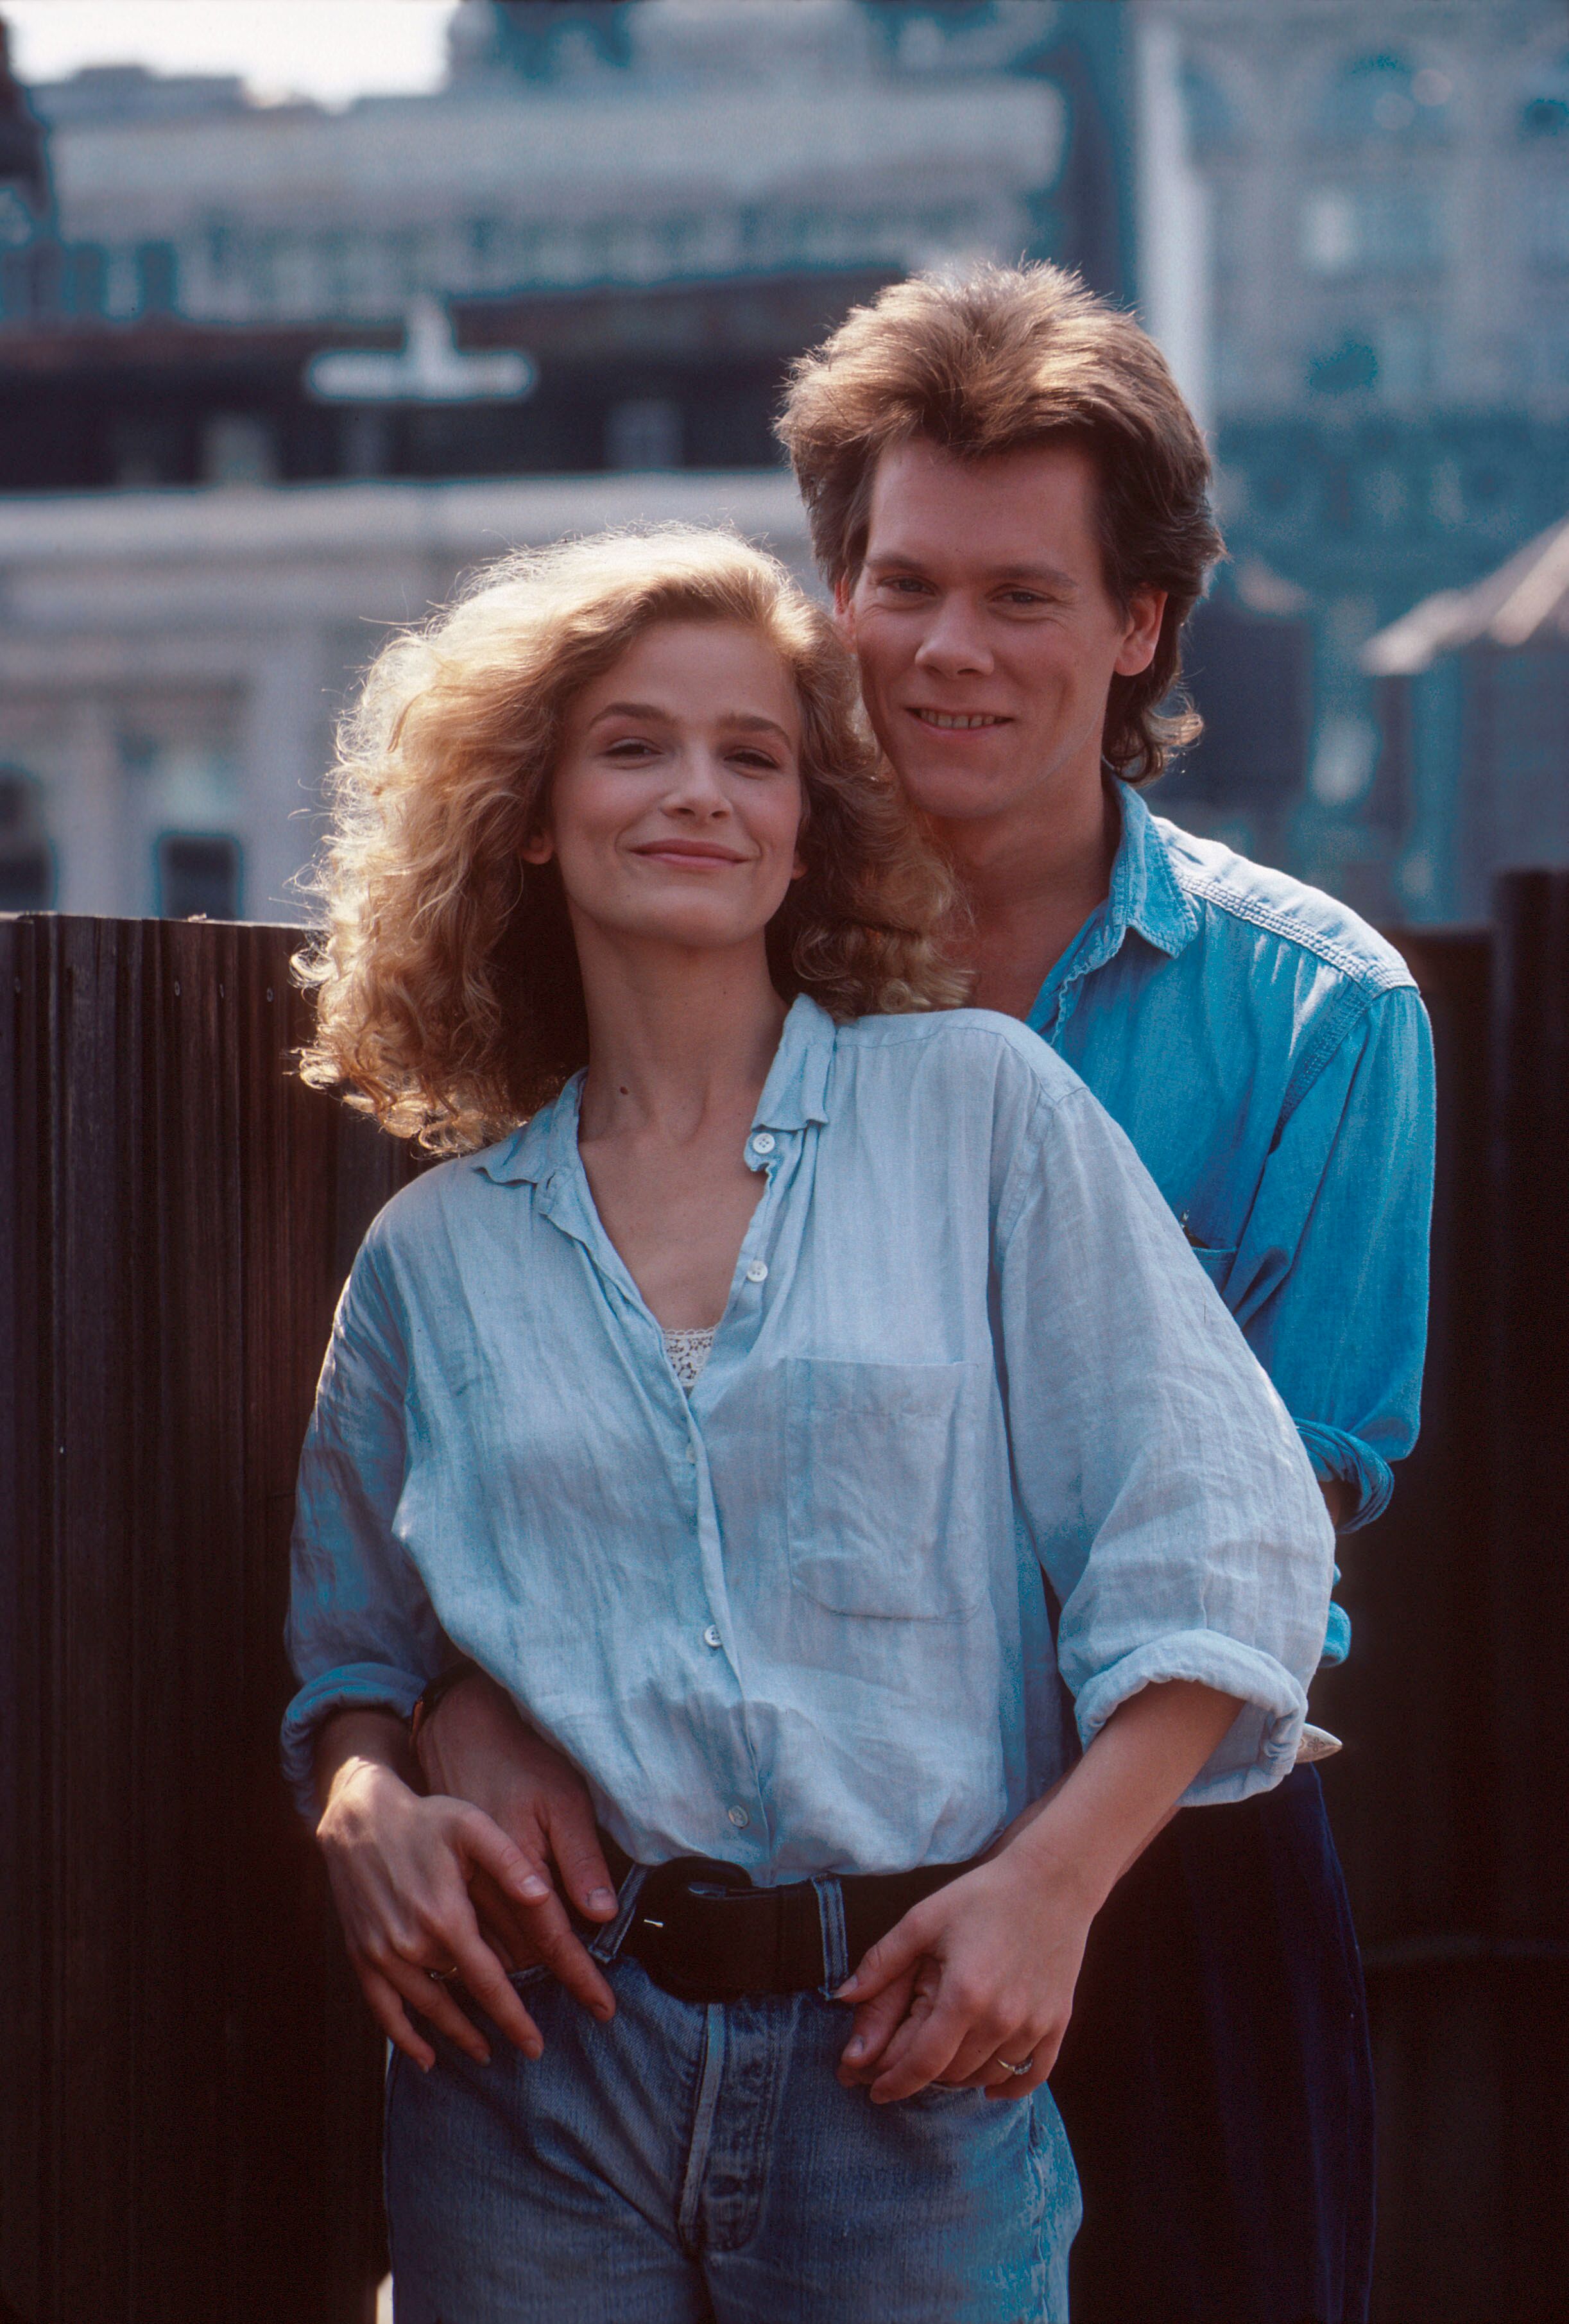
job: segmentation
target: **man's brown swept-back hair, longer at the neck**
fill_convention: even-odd
[[[1165,356],[1132,316],[1062,267],[916,274],[790,372],[779,418],[832,583],[853,586],[867,553],[872,479],[895,444],[920,439],[958,460],[1037,444],[1081,444],[1099,479],[1106,588],[1127,607],[1162,588],[1148,669],[1116,676],[1102,753],[1151,783],[1199,734],[1185,704],[1160,713],[1181,676],[1181,630],[1223,551],[1209,511],[1209,453]]]

